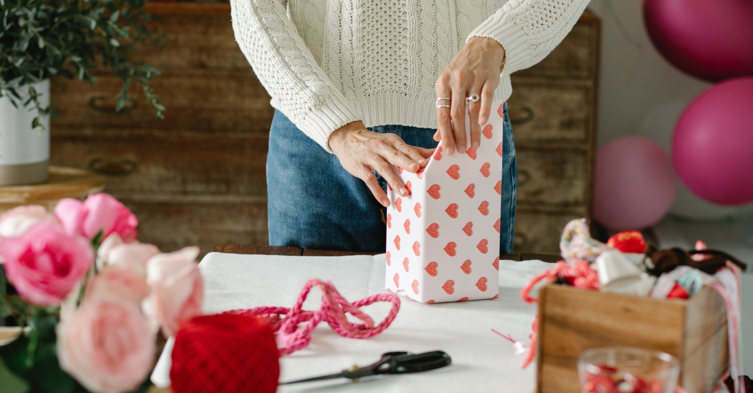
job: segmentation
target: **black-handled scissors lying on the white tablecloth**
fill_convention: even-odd
[[[353,382],[364,376],[373,376],[379,374],[403,374],[419,373],[421,371],[434,370],[450,365],[452,359],[450,355],[443,351],[431,351],[424,353],[411,353],[407,351],[386,352],[382,358],[373,364],[364,367],[353,366],[348,370],[340,373],[334,373],[323,376],[314,376],[312,378],[298,379],[297,381],[283,382],[280,385],[289,385],[291,383],[323,381],[325,379],[349,378]]]

